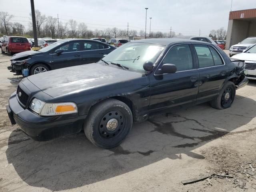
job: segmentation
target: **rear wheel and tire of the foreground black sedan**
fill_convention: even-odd
[[[233,82],[228,81],[220,90],[218,97],[210,102],[211,106],[216,109],[230,108],[236,96],[236,86]]]

